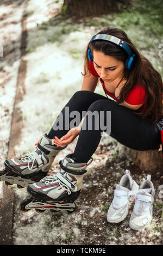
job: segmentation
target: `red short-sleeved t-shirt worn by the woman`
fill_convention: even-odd
[[[93,76],[98,76],[93,62],[89,62],[89,70],[91,72],[91,74]],[[111,96],[113,99],[115,99],[115,95],[108,92],[108,90],[105,88],[104,86],[104,81],[100,78],[100,81],[102,83],[103,89],[105,91],[106,94],[108,94],[109,96]],[[141,85],[141,84],[136,84],[133,89],[131,89],[131,91],[127,94],[125,101],[127,103],[129,103],[130,105],[140,105],[145,103],[145,95],[146,95],[146,90],[145,88]],[[116,99],[118,101],[118,99]],[[139,111],[143,109],[143,106],[141,106],[141,108],[139,108]]]

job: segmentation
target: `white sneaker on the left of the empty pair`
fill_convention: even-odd
[[[139,185],[131,178],[130,171],[126,170],[120,180],[120,184],[116,185],[114,199],[109,207],[107,221],[118,223],[124,220],[128,215],[130,199],[135,197]]]

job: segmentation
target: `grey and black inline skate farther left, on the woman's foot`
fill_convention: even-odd
[[[26,156],[5,160],[5,169],[0,171],[0,181],[10,186],[17,184],[18,188],[27,187],[47,175],[52,162],[61,150],[54,145],[47,134],[43,135],[37,144],[37,149]]]

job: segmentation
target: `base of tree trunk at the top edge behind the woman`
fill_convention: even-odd
[[[118,9],[118,4],[127,6],[131,0],[64,0],[65,14],[76,19],[109,14]]]

